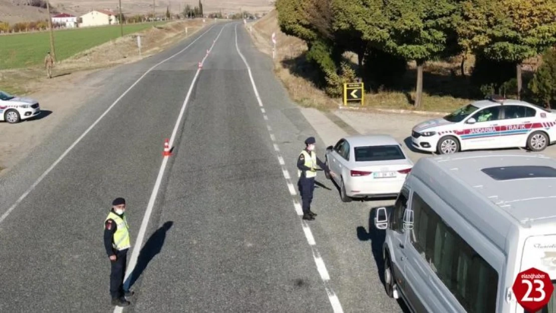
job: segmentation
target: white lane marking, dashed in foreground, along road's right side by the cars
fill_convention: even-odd
[[[253,74],[251,73],[251,67],[249,66],[249,63],[247,63],[247,60],[245,59],[244,55],[241,53],[239,46],[237,45],[237,24],[235,26],[235,37],[236,37],[236,50],[237,53],[240,55],[241,59],[244,61],[245,66],[247,67],[247,73],[249,73],[249,78],[251,80],[251,86],[253,87],[253,91],[255,92],[255,97],[257,98],[257,102],[259,103],[259,106],[262,108],[262,101],[261,101],[261,97],[259,96],[259,91],[257,91],[257,86],[255,85],[255,80],[253,79]],[[262,110],[262,109],[261,109]],[[266,116],[265,112],[262,111],[263,113],[263,117],[265,118],[265,121],[268,121],[268,117]],[[270,125],[266,125],[266,128],[269,130],[269,132],[272,131],[272,128],[270,127]],[[274,142],[274,135],[272,135],[270,133],[271,139]],[[278,154],[278,161],[280,162],[280,165],[282,166],[282,172],[284,172],[284,177],[286,179],[286,183],[287,183],[287,188],[290,190],[290,195],[295,196],[296,192],[295,192],[295,188],[294,185],[290,182],[290,178],[289,178],[289,173],[287,173],[287,170],[284,167],[284,158],[282,158],[282,156],[280,155],[280,148],[276,145],[276,143],[273,143],[274,145],[274,150],[277,152]],[[287,176],[286,176],[287,173]],[[299,204],[299,202],[297,202],[297,200],[295,198],[292,199],[292,201],[294,202],[294,207],[295,207],[295,211],[297,213],[298,216],[302,216],[303,215],[303,211],[301,208],[301,205]],[[328,295],[328,299],[330,301],[330,304],[332,305],[332,310],[334,310],[335,313],[343,313],[344,310],[342,309],[342,306],[340,304],[340,300],[338,299],[338,297],[336,296],[336,294],[334,293],[334,291],[332,290],[332,287],[330,287],[330,275],[328,274],[328,271],[326,270],[326,265],[324,264],[324,260],[322,260],[322,257],[319,254],[319,251],[316,249],[316,241],[312,235],[311,232],[311,228],[309,227],[309,225],[307,225],[307,223],[304,220],[301,220],[301,226],[303,228],[303,232],[305,233],[305,237],[307,239],[307,242],[309,242],[309,245],[311,246],[311,250],[312,250],[312,254],[313,254],[313,258],[315,259],[315,265],[316,265],[316,269],[319,272],[319,275],[322,279],[322,282],[324,283],[325,286],[325,290],[326,290],[326,294]]]

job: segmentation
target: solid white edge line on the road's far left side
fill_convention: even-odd
[[[21,201],[23,201],[23,199],[24,199],[25,197],[27,197],[27,195],[29,194],[29,192],[33,191],[33,189],[34,189],[35,187],[37,187],[37,185],[44,179],[44,177],[46,177],[46,176],[48,175],[48,173],[50,173],[50,172],[54,169],[54,167],[56,167],[56,165],[58,165],[58,163],[61,162],[61,161],[63,160],[63,158],[66,157],[66,155],[67,155],[70,151],[72,151],[72,149],[73,149],[78,143],[81,142],[81,140],[83,139],[83,137],[87,136],[87,134],[93,129],[93,127],[95,127],[95,126],[98,124],[98,122],[100,122],[100,121],[102,120],[102,118],[105,117],[105,116],[107,115],[107,113],[108,113],[110,110],[112,110],[112,108],[113,108],[114,106],[116,106],[116,104],[117,104],[118,102],[120,102],[120,100],[122,100],[122,98],[123,98],[125,95],[127,95],[127,93],[130,92],[130,90],[132,90],[132,88],[135,87],[135,85],[137,85],[137,83],[139,83],[139,82],[143,79],[143,77],[147,76],[147,74],[150,73],[153,69],[155,69],[155,67],[157,67],[157,66],[159,66],[160,64],[162,64],[162,63],[164,63],[164,62],[166,62],[166,61],[168,61],[168,60],[170,60],[170,59],[176,57],[178,54],[182,53],[183,51],[186,51],[187,48],[189,48],[189,47],[190,47],[193,43],[195,43],[198,39],[201,39],[201,37],[203,37],[207,32],[209,32],[209,31],[210,31],[213,27],[215,27],[215,26],[216,26],[216,25],[211,26],[209,29],[207,29],[206,32],[200,34],[200,36],[197,37],[195,40],[193,40],[190,44],[188,44],[187,47],[181,49],[181,50],[178,51],[177,53],[172,54],[172,56],[170,56],[170,57],[168,57],[168,58],[166,58],[166,59],[163,59],[161,62],[158,62],[158,63],[156,63],[154,66],[152,66],[151,68],[147,69],[147,71],[146,71],[144,74],[142,74],[141,77],[139,77],[139,78],[133,83],[133,85],[131,85],[129,88],[127,88],[127,90],[124,91],[124,92],[122,93],[122,95],[121,95],[120,97],[118,97],[118,98],[116,99],[116,101],[114,101],[114,102],[112,103],[112,105],[110,105],[110,107],[108,107],[108,108],[106,109],[106,111],[105,111],[104,113],[102,113],[102,115],[101,115],[100,117],[98,117],[97,120],[96,120],[95,122],[93,122],[93,124],[92,124],[91,126],[89,126],[89,128],[87,128],[87,130],[86,130],[85,132],[83,132],[83,133],[81,134],[81,136],[79,136],[79,138],[77,138],[77,140],[74,141],[74,142],[72,143],[72,145],[69,146],[69,148],[67,148],[66,151],[64,151],[64,153],[62,153],[62,155],[61,155],[60,157],[58,157],[58,160],[54,161],[54,163],[52,163],[52,165],[51,165],[50,167],[48,167],[48,169],[47,169],[46,171],[44,171],[44,173],[42,173],[41,176],[38,177],[37,181],[35,181],[35,182],[33,183],[33,185],[31,185],[31,187],[29,187],[29,188],[27,189],[27,191],[25,191],[25,192],[23,193],[23,195],[21,195],[21,197],[19,197],[19,198],[17,199],[16,203],[13,203],[13,205],[12,205],[10,208],[8,208],[8,210],[7,210],[6,212],[4,212],[4,214],[2,214],[2,216],[0,216],[0,223],[2,223],[2,222],[6,219],[6,217],[8,217],[8,215],[9,215],[13,210],[15,210],[15,208],[17,207],[17,205],[18,205],[19,203],[21,203]]]

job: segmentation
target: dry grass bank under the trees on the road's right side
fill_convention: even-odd
[[[247,25],[251,28],[251,25]],[[287,36],[280,32],[276,10],[252,24],[251,37],[255,45],[262,52],[272,55],[272,32],[276,33],[277,54],[275,63],[276,76],[289,91],[292,100],[304,107],[314,107],[322,111],[334,110],[342,105],[340,98],[330,98],[324,91],[315,87],[311,79],[313,73],[307,66],[304,52],[306,44],[299,38]],[[357,57],[353,53],[345,53],[344,58],[356,67]],[[471,73],[474,57],[465,61],[465,73]],[[415,62],[408,63],[408,71],[401,78],[400,86],[396,90],[380,90],[376,93],[365,94],[366,108],[388,108],[413,111],[451,112],[472,101],[469,93],[471,86],[468,78],[460,76],[461,58],[455,57],[450,62],[428,62],[424,68],[424,92],[421,107],[415,108],[416,69]],[[528,60],[524,70],[536,68],[537,60]],[[303,72],[304,74],[299,74]],[[358,106],[357,103],[355,103]]]

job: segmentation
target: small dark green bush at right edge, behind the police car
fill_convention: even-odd
[[[548,48],[543,54],[533,80],[529,82],[529,89],[536,100],[550,108],[550,101],[556,100],[556,50]]]

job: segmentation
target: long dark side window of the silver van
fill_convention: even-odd
[[[413,193],[414,236],[411,244],[468,312],[494,312],[498,273]]]

